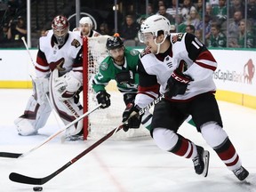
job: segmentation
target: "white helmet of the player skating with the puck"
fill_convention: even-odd
[[[152,33],[157,36],[158,31],[164,31],[164,39],[171,35],[171,24],[168,19],[162,15],[152,15],[144,20],[140,26],[140,42],[144,42],[144,33]]]

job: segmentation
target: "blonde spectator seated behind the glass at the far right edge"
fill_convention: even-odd
[[[238,26],[239,32],[236,44],[232,42],[230,46],[239,48],[255,48],[255,38],[251,31],[250,21],[246,22],[246,20],[240,20]]]

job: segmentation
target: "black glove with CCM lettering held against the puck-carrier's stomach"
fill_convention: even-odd
[[[167,81],[167,86],[169,88],[167,97],[172,98],[178,94],[184,94],[187,90],[188,83],[191,81],[193,81],[191,76],[181,73],[179,69],[175,69],[172,72],[172,76]]]

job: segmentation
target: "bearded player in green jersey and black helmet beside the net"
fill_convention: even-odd
[[[116,80],[117,89],[124,95],[125,105],[132,105],[138,91],[137,64],[140,52],[124,47],[119,36],[109,37],[106,47],[109,56],[100,63],[99,72],[92,80],[92,89],[96,92],[98,103],[102,104],[101,108],[110,106],[110,95],[105,87],[110,80]],[[139,128],[141,121],[141,124],[150,130],[151,118],[152,115],[148,112],[135,122],[133,127]],[[124,128],[124,131],[127,130]]]

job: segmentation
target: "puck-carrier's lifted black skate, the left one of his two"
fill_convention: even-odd
[[[210,153],[200,146],[196,146],[197,156],[192,159],[196,174],[202,174],[204,177],[208,174]]]

